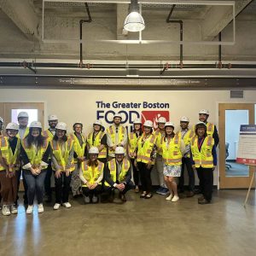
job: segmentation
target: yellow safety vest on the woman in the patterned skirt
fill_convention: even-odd
[[[161,151],[163,154],[163,159],[167,166],[180,166],[182,165],[183,154],[180,150],[181,137],[176,134],[168,144],[165,137],[161,138]]]

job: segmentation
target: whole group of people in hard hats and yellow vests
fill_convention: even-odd
[[[121,125],[122,116],[115,113],[113,125],[103,131],[102,122],[96,120],[87,137],[83,124],[76,122],[73,133],[67,134],[67,125],[59,122],[55,114],[49,115],[49,129],[43,131],[40,122],[29,127],[28,114],[20,112],[18,123],[9,123],[3,135],[0,118],[0,194],[3,215],[17,213],[20,176],[24,184],[26,213],[44,212],[44,195],[52,201],[51,177],[55,177],[55,204],[70,208],[70,190],[73,197],[84,196],[85,203],[113,201],[115,191],[125,202],[125,193],[134,189],[140,197],[153,196],[151,172],[155,166],[160,187],[156,193],[167,195],[167,201],[178,201],[178,192],[184,190],[184,170],[189,174],[187,196],[195,195],[195,171],[200,180],[202,196],[198,203],[212,201],[213,170],[217,165],[216,147],[218,131],[207,122],[209,112],[202,109],[199,119],[189,129],[189,119],[180,119],[181,129],[174,132],[174,124],[160,117],[158,129],[153,122],[134,120],[129,134]],[[132,173],[131,173],[132,172]],[[133,177],[134,183],[131,181]],[[178,186],[177,186],[178,181]],[[139,187],[139,184],[141,186]]]

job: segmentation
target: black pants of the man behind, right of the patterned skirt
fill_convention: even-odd
[[[185,166],[189,175],[189,191],[194,191],[195,189],[195,173],[192,169],[190,158],[183,157],[182,159],[182,172],[181,176],[178,178],[178,189],[181,191],[184,190],[184,172],[185,172]]]

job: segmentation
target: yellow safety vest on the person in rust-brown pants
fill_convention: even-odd
[[[15,148],[15,154],[13,154],[12,148],[9,146],[8,137],[1,137],[0,139],[0,150],[2,157],[6,160],[8,164],[10,172],[16,171],[20,167],[19,159],[20,159],[20,138],[18,138],[17,145]],[[0,171],[5,170],[5,168],[0,163]]]

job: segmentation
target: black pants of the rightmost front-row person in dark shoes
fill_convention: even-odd
[[[207,201],[212,200],[212,187],[213,187],[213,170],[212,168],[196,168],[196,172],[200,181],[200,189],[202,195]]]

